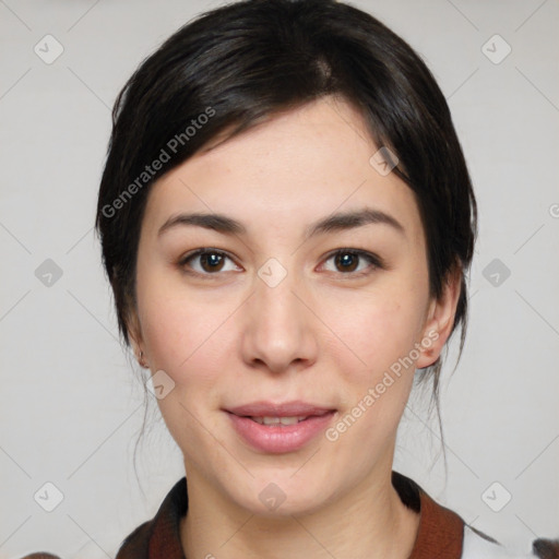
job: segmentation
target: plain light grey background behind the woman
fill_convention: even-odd
[[[559,537],[559,3],[354,3],[432,69],[480,210],[467,343],[441,391],[448,477],[420,394],[394,468],[527,551],[537,536]],[[162,421],[139,452],[145,497],[136,481],[142,389],[117,341],[92,226],[118,91],[162,40],[215,5],[0,0],[0,558],[114,557],[183,475]],[[47,49],[47,34],[64,49],[51,64],[34,51]],[[500,63],[507,45],[487,43],[495,34],[512,48]],[[46,259],[62,270],[51,286],[35,275]],[[511,272],[497,286],[484,276],[493,259]],[[155,401],[151,409],[157,420]],[[47,481],[63,493],[52,512],[34,500]],[[506,491],[510,502],[495,512],[488,503],[502,506]]]

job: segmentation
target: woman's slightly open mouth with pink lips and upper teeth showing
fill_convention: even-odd
[[[254,402],[224,409],[233,427],[250,447],[264,453],[301,449],[332,421],[335,408],[306,402]]]

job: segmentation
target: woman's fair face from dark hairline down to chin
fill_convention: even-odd
[[[414,193],[370,163],[378,148],[323,98],[153,186],[131,334],[189,492],[304,513],[391,471],[415,368],[437,359],[459,294],[429,297]]]

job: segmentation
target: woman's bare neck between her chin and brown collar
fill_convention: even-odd
[[[419,514],[406,508],[392,471],[368,476],[310,514],[271,519],[238,508],[189,471],[189,509],[181,520],[187,559],[405,559],[412,554]],[[207,496],[212,495],[210,499]]]

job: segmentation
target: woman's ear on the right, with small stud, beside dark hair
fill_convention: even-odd
[[[420,355],[415,365],[417,369],[429,367],[441,355],[454,325],[461,283],[462,267],[456,264],[449,272],[439,299],[432,299],[429,305],[423,338],[419,342]]]

